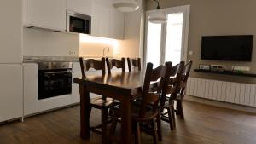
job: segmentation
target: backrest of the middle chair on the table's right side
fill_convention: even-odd
[[[172,102],[177,97],[177,94],[181,89],[184,61],[181,61],[176,66],[172,66],[170,63],[172,62],[166,62],[167,71],[161,93],[160,107],[163,107],[166,101]],[[166,95],[170,95],[170,98],[166,99]]]

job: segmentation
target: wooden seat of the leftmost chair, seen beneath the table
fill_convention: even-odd
[[[119,103],[119,101],[113,100],[112,98],[106,98],[106,100],[102,98],[97,98],[95,100],[90,101],[91,107],[96,107],[102,109],[104,107],[114,107]]]

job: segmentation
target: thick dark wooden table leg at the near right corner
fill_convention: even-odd
[[[131,144],[131,96],[124,96],[121,101],[122,107],[122,143]]]

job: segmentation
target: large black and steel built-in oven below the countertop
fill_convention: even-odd
[[[38,100],[71,92],[71,62],[38,62]]]

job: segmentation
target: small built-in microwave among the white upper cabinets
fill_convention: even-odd
[[[91,17],[85,14],[67,11],[67,32],[90,34]]]

